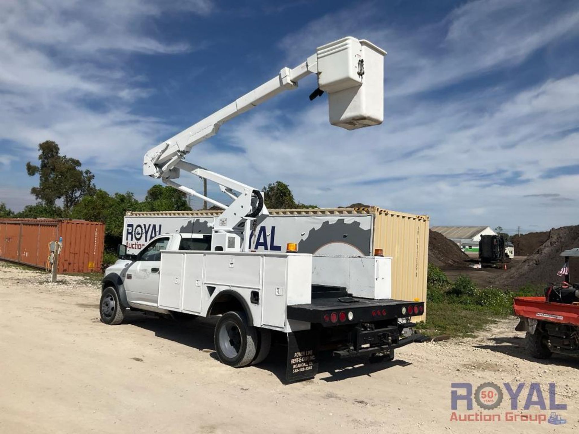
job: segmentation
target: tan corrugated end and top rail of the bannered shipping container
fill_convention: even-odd
[[[427,215],[406,214],[378,207],[269,209],[270,215],[372,215],[371,249],[383,249],[384,256],[393,258],[392,297],[397,300],[426,301],[428,272]],[[181,217],[208,218],[221,211],[127,212],[127,217]],[[298,240],[296,240],[298,241]],[[426,310],[416,321],[426,319]]]

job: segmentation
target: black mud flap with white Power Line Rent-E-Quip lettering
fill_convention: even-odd
[[[288,333],[287,367],[288,382],[314,378],[318,373],[318,339],[313,330]]]

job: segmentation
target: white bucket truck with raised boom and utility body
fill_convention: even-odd
[[[222,208],[211,234],[157,234],[137,255],[119,246],[119,260],[105,272],[102,322],[118,324],[127,309],[178,317],[221,315],[215,328],[219,360],[241,367],[263,361],[272,337],[287,345],[286,380],[312,378],[318,350],[338,357],[366,355],[383,361],[394,349],[420,340],[403,333],[422,315],[419,300],[391,299],[391,258],[313,256],[288,243],[285,252],[250,251],[256,218],[267,216],[263,193],[185,161],[193,146],[217,134],[223,123],[283,93],[313,74],[309,99],[327,93],[329,122],[355,130],[383,120],[383,58],[364,39],[347,37],[320,46],[295,68],[162,142],[146,153],[144,175]],[[229,204],[179,182],[189,172],[217,183]],[[399,321],[402,319],[402,321]]]

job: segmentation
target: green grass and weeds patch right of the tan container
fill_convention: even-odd
[[[478,288],[467,276],[454,282],[438,267],[428,265],[428,309],[426,322],[417,329],[428,336],[474,336],[474,333],[501,317],[512,315],[515,297],[543,295],[544,288],[528,285],[518,290],[488,286]]]

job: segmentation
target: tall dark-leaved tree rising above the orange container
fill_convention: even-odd
[[[56,201],[62,199],[64,212],[68,212],[83,196],[94,193],[94,175],[90,170],[80,170],[82,164],[79,160],[60,155],[56,142],[42,142],[38,150],[40,165],[28,161],[26,172],[29,176],[39,175],[38,187],[32,187],[30,192],[43,205],[55,207]]]

